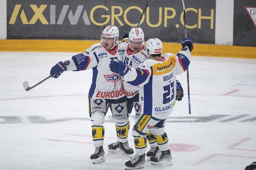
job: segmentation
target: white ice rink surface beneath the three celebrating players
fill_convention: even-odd
[[[124,170],[128,158],[107,152],[116,141],[110,111],[104,124],[106,161],[90,160],[92,70],[64,72],[23,89],[24,81],[35,85],[74,54],[0,52],[0,170]],[[143,169],[244,170],[256,161],[256,60],[193,56],[189,71],[192,113],[183,73],[177,79],[185,95],[165,126],[173,165],[146,162]],[[130,121],[133,125],[134,112]],[[129,144],[134,149],[132,135]]]

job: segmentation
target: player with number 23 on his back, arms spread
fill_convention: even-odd
[[[162,42],[149,39],[146,52],[150,56],[138,68],[131,68],[122,61],[110,62],[110,70],[118,73],[129,84],[139,86],[141,115],[132,128],[136,156],[125,163],[125,169],[140,169],[145,163],[146,138],[151,130],[157,139],[160,153],[150,158],[157,165],[166,162],[172,165],[168,136],[164,131],[166,118],[172,113],[176,103],[176,74],[185,72],[190,64],[193,43],[191,39],[181,41],[182,50],[177,55],[162,53]]]

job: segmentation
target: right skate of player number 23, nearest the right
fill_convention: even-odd
[[[161,151],[156,156],[152,156],[150,158],[150,163],[152,165],[160,165],[163,162],[167,163],[167,165],[172,165],[172,156],[170,149],[167,151]]]

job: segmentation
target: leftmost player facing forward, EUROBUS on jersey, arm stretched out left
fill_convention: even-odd
[[[91,155],[93,163],[105,161],[103,127],[107,105],[116,121],[117,141],[125,155],[131,156],[133,149],[128,145],[128,120],[125,92],[120,74],[109,70],[107,63],[122,60],[124,43],[118,43],[119,30],[116,26],[107,26],[101,35],[102,43],[96,43],[83,53],[73,56],[65,62],[60,61],[51,68],[50,74],[58,78],[63,71],[83,71],[92,69],[92,83],[88,94],[91,131],[95,152]]]

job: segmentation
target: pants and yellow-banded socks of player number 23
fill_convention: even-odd
[[[152,133],[151,138],[155,137],[159,149],[161,151],[169,149],[168,136],[164,131],[165,122],[166,119],[160,120],[149,115],[140,115],[132,128],[132,136],[134,137],[134,145],[137,155],[143,155],[146,152],[147,143],[145,135],[150,130]]]

